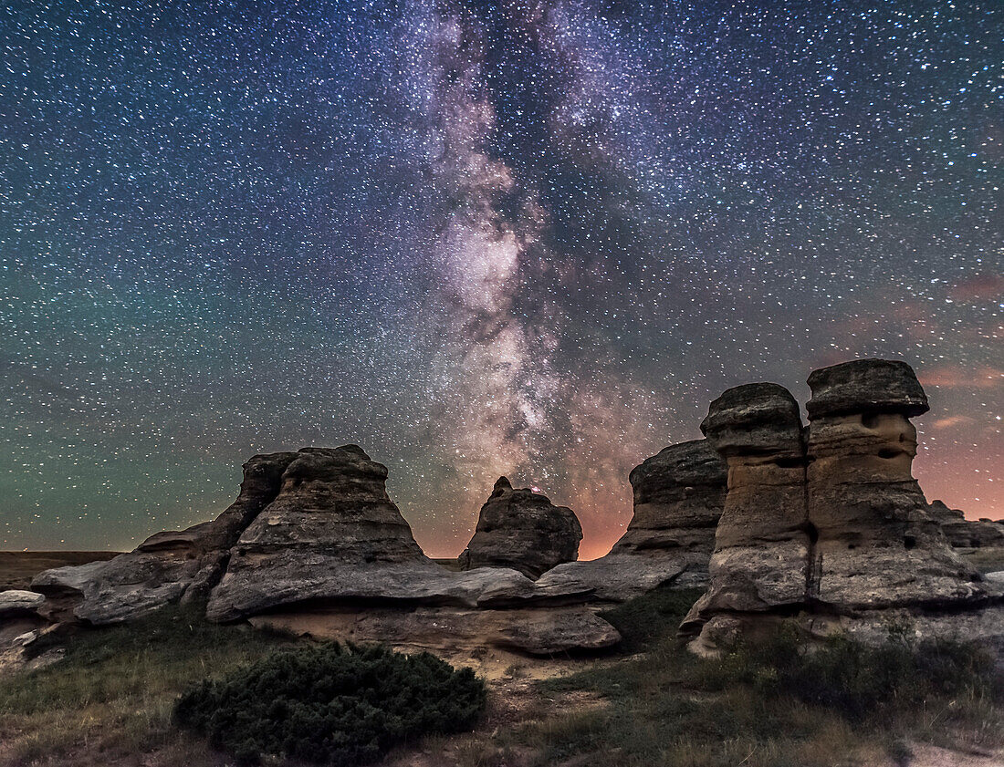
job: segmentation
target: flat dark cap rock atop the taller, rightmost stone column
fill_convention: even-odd
[[[926,413],[928,398],[914,369],[898,360],[854,360],[813,370],[809,420],[850,413]]]

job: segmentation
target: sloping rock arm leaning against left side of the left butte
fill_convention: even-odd
[[[210,522],[159,532],[136,550],[107,561],[39,573],[32,590],[47,598],[53,620],[70,616],[94,625],[138,618],[165,605],[204,600],[219,581],[230,547],[244,527],[278,494],[297,453],[256,455],[244,464],[237,499]]]

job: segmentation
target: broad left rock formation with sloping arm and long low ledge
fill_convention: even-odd
[[[386,479],[387,468],[355,445],[255,456],[244,465],[238,498],[215,520],[158,533],[107,561],[46,570],[33,581],[30,603],[51,621],[92,625],[207,597],[207,616],[215,621],[276,611],[310,616],[331,606],[361,614],[384,606],[397,616],[385,628],[410,630],[414,620],[407,617],[416,610],[427,617],[439,611],[442,621],[485,630],[486,641],[525,652],[595,649],[619,640],[581,607],[562,612],[560,621],[540,611],[511,624],[518,617],[507,608],[522,604],[533,582],[509,568],[456,572],[427,557],[388,496]],[[23,612],[23,599],[7,597],[0,605]],[[492,617],[455,620],[482,611]],[[44,624],[24,619],[19,632]],[[563,639],[555,635],[560,627],[568,630]]]

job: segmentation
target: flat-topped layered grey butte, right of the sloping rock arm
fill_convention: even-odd
[[[387,473],[357,445],[296,453],[276,498],[231,549],[209,617],[234,620],[316,600],[394,599],[395,584],[407,585],[418,569],[445,571],[422,553],[391,501]]]

